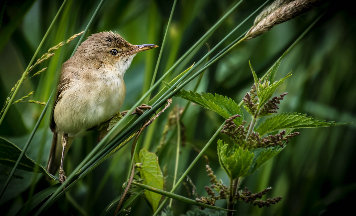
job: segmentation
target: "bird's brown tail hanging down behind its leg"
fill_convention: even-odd
[[[74,137],[68,137],[68,142],[66,145],[66,151],[64,156],[67,154],[70,145],[73,142]],[[62,160],[62,133],[54,131],[52,138],[51,151],[49,152],[47,171],[52,175],[56,175],[59,167],[61,166]],[[51,178],[46,176],[46,180],[50,181]]]

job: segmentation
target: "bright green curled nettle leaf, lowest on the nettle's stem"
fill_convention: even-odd
[[[253,153],[243,148],[229,148],[229,145],[223,143],[222,140],[218,141],[218,156],[221,167],[229,175],[230,179],[244,177],[253,160]]]

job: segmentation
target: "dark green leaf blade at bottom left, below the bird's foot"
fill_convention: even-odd
[[[40,204],[43,200],[45,200],[48,196],[54,193],[57,190],[60,184],[55,184],[46,188],[45,190],[41,190],[34,196],[32,196],[23,206],[21,209],[16,213],[16,216],[25,216],[30,213],[30,211],[35,208],[38,204]]]

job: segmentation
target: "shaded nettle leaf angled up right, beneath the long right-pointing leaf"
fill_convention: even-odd
[[[285,148],[286,146],[284,146]],[[281,152],[284,148],[281,146],[269,147],[269,148],[256,148],[253,150],[253,157],[252,164],[250,166],[250,170],[246,175],[251,175],[255,172],[258,168],[260,168],[263,164],[265,164],[269,159],[276,156],[279,152]]]

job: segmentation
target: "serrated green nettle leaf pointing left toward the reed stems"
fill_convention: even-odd
[[[241,118],[236,118],[234,120],[236,125],[241,125],[241,122],[244,119],[242,110],[240,109],[239,105],[237,105],[236,102],[231,98],[227,98],[226,96],[218,94],[212,95],[210,93],[206,94],[204,92],[202,92],[200,95],[199,93],[193,91],[188,92],[184,89],[178,91],[175,96],[189,100],[199,106],[212,110],[223,116],[225,119],[229,119],[229,117],[239,114],[241,115]]]

